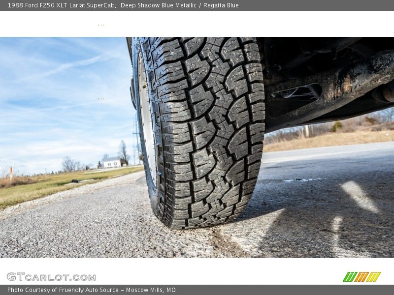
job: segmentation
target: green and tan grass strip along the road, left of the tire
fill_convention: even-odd
[[[10,183],[8,178],[2,178],[0,179],[0,209],[84,184],[142,170],[143,167],[138,166],[102,172],[78,171],[34,177],[15,177],[13,183]],[[66,185],[72,179],[78,179],[78,181],[92,179],[92,181]]]

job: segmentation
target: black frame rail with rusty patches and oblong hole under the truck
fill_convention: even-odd
[[[271,132],[301,125],[336,110],[368,91],[392,80],[394,80],[394,51],[383,51],[369,59],[350,64],[344,68],[267,86],[265,88],[267,109],[269,109],[269,102],[272,99],[271,94],[275,92],[319,84],[322,93],[316,100],[294,111],[277,117],[267,116],[266,129]]]

